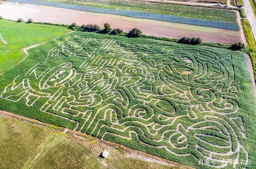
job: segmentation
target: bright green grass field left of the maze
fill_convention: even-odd
[[[67,28],[0,20],[0,33],[8,43],[0,42],[0,74],[24,59],[22,48],[57,38],[70,32]]]

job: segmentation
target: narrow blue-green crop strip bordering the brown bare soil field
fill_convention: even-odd
[[[216,20],[206,20],[206,19],[190,18],[190,17],[184,17],[184,16],[172,16],[172,15],[166,15],[166,14],[140,12],[140,11],[134,11],[134,10],[98,8],[98,7],[93,7],[93,6],[63,4],[63,3],[59,3],[59,2],[44,2],[44,1],[39,1],[39,0],[12,0],[12,1],[15,1],[15,2],[18,1],[18,2],[22,2],[22,3],[28,3],[28,4],[38,4],[38,5],[44,5],[44,6],[54,6],[54,7],[59,7],[59,8],[68,8],[68,9],[74,9],[74,10],[82,10],[82,11],[88,11],[88,12],[117,14],[117,15],[135,17],[135,18],[176,22],[176,23],[181,23],[181,24],[191,24],[191,25],[206,26],[206,27],[213,27],[213,28],[222,28],[222,29],[228,29],[228,30],[239,30],[238,24],[236,22],[222,22],[222,21],[216,21]],[[202,9],[200,12],[203,12],[203,10],[208,10],[208,8],[200,8],[200,9]],[[228,10],[226,10],[226,11],[228,11]],[[206,13],[206,11],[204,11],[204,12]],[[228,11],[228,12],[234,12],[234,11]],[[235,15],[234,15],[234,17],[235,17]]]

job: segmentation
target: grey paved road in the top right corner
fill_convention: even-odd
[[[254,13],[250,6],[249,0],[243,0],[243,2],[244,2],[245,12],[247,13],[246,17],[250,23],[250,26],[252,27],[252,34],[253,34],[254,38],[256,38],[256,20],[254,17]]]

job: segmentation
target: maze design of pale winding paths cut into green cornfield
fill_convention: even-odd
[[[78,131],[137,137],[141,145],[225,167],[222,158],[248,158],[231,61],[211,50],[72,35],[1,97],[27,106],[44,100],[40,111],[78,121]]]

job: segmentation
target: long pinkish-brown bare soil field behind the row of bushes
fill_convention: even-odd
[[[10,20],[16,20],[17,18],[27,20],[28,18],[32,18],[35,22],[51,22],[57,24],[71,24],[76,22],[78,25],[93,23],[103,26],[104,23],[108,22],[112,28],[122,28],[124,32],[128,32],[132,28],[138,28],[142,30],[143,34],[152,36],[168,38],[182,38],[184,36],[200,37],[205,42],[225,44],[243,42],[240,31],[22,3],[0,4],[0,16]]]

